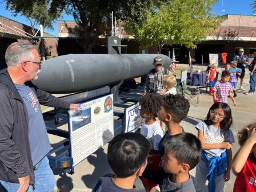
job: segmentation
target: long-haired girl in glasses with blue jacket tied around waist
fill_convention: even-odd
[[[223,191],[230,179],[232,144],[235,142],[230,127],[233,123],[231,109],[227,103],[214,103],[204,121],[195,128],[202,142],[203,155],[195,172],[195,189],[205,191],[206,179],[209,192]]]

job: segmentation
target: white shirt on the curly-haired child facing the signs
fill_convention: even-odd
[[[154,150],[159,151],[158,144],[163,137],[163,130],[160,124],[156,121],[151,125],[146,125],[146,119],[143,119],[143,121],[143,125],[141,126],[141,134],[146,137]]]

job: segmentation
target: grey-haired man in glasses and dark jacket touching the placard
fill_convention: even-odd
[[[7,191],[53,191],[55,179],[46,154],[50,142],[40,103],[78,110],[38,89],[41,61],[36,46],[12,43],[7,69],[0,71],[0,183]]]

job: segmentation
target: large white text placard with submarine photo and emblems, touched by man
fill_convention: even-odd
[[[113,94],[80,105],[80,111],[69,110],[73,166],[114,137]]]

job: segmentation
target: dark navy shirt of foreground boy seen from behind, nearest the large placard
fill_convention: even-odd
[[[136,192],[135,186],[133,186],[133,189],[123,189],[115,185],[113,182],[114,176],[114,174],[106,174],[105,176],[100,177],[93,192]]]

